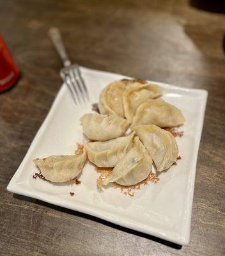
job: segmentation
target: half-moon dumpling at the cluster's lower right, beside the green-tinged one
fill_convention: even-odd
[[[170,132],[156,125],[139,125],[134,127],[134,131],[146,147],[158,172],[167,170],[175,163],[178,145]]]

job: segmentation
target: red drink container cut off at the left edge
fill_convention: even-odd
[[[19,68],[0,35],[0,92],[12,87],[19,78],[19,74]]]

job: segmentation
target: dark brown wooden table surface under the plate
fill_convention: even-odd
[[[0,1],[0,31],[21,70],[0,95],[1,255],[224,255],[225,19],[194,5]],[[61,86],[51,26],[73,63],[208,90],[188,246],[6,191]]]

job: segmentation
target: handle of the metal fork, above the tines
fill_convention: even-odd
[[[50,28],[49,36],[52,44],[56,48],[56,52],[58,52],[59,58],[61,59],[63,66],[68,67],[71,65],[71,62],[66,53],[65,46],[63,44],[63,40],[61,38],[61,33],[58,28]]]

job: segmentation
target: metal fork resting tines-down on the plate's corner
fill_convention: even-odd
[[[81,70],[77,64],[71,65],[59,29],[50,28],[49,36],[64,66],[60,70],[60,76],[68,87],[75,105],[89,101],[88,88],[82,79]]]

